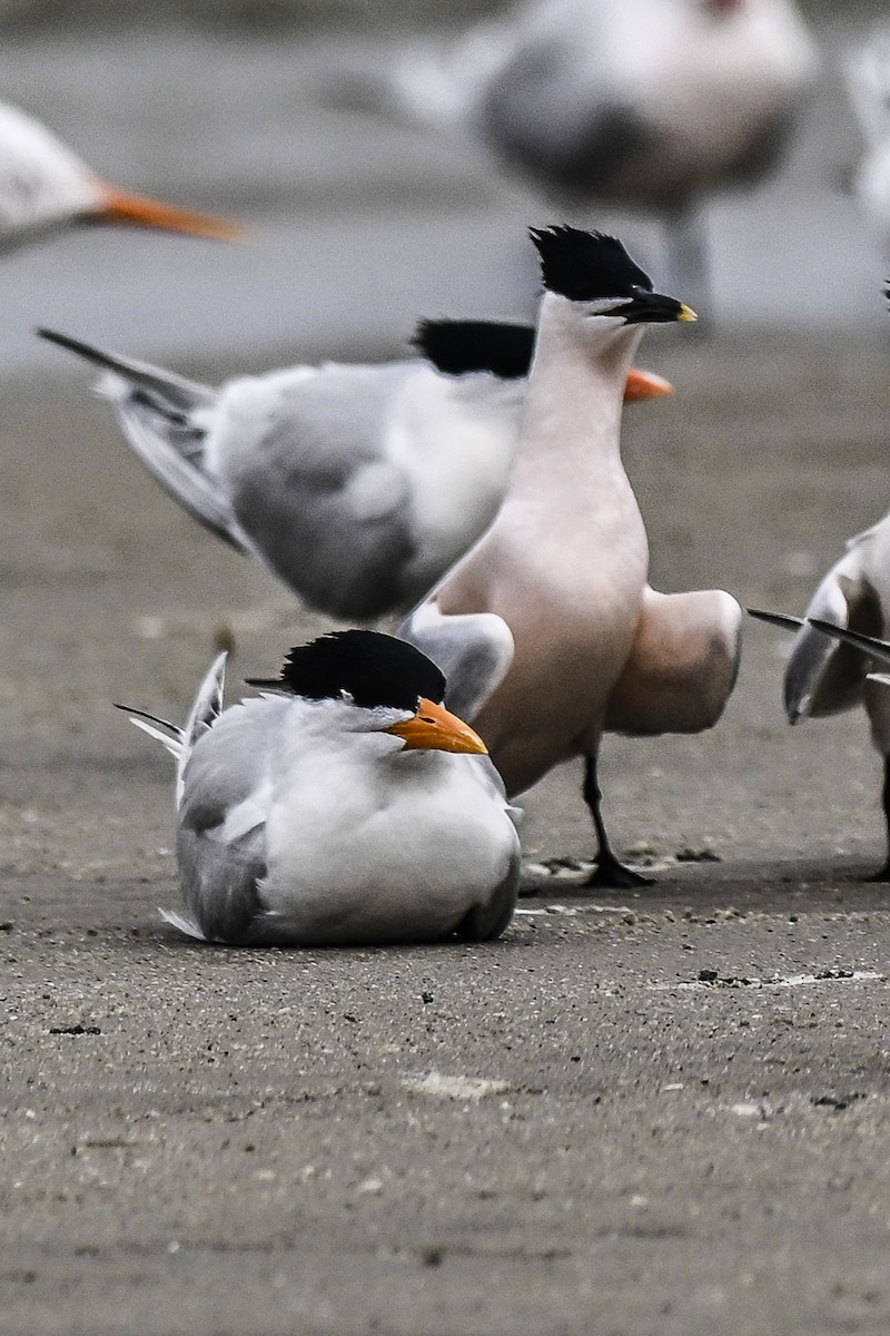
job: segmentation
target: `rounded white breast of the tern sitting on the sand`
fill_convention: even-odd
[[[379,743],[282,747],[260,894],[298,941],[443,937],[507,874],[516,834],[472,758],[390,748],[382,763]]]

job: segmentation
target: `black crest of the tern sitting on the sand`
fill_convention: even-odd
[[[331,631],[295,645],[276,681],[248,677],[251,687],[278,687],[308,700],[336,700],[348,691],[356,705],[416,709],[424,696],[439,704],[444,676],[431,659],[380,631]]]

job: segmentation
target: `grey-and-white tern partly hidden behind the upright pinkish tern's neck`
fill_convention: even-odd
[[[491,521],[534,345],[531,326],[427,321],[435,365],[328,362],[215,390],[40,334],[108,370],[100,394],[180,505],[344,620],[411,607]],[[628,371],[628,398],[670,389]]]

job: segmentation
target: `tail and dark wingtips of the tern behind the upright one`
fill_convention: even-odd
[[[216,390],[147,362],[104,353],[67,334],[37,330],[41,338],[76,353],[105,375],[99,393],[151,476],[188,513],[239,552],[256,556],[219,480],[207,470],[207,421]]]

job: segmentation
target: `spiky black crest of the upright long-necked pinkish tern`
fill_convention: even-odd
[[[540,257],[544,287],[572,302],[596,302],[651,293],[652,281],[635,265],[616,236],[583,232],[578,227],[530,228]]]

